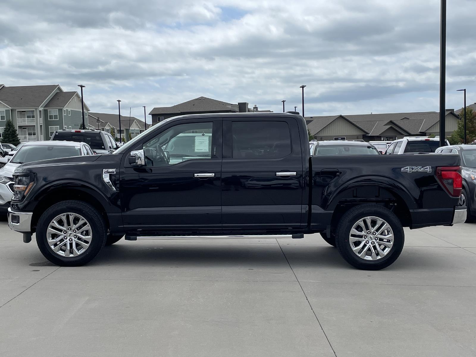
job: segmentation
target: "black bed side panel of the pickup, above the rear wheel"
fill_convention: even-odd
[[[319,220],[319,212],[333,211],[339,201],[359,197],[358,190],[377,186],[401,197],[412,216],[412,226],[433,225],[432,219],[449,224],[458,199],[450,197],[436,180],[436,168],[459,166],[458,155],[368,155],[368,156],[314,156],[311,157],[312,185],[311,226]],[[407,166],[431,167],[428,172],[403,172]],[[340,175],[325,182],[321,171],[338,169]],[[377,199],[379,190],[370,191],[368,199]],[[437,213],[441,217],[431,217]],[[435,222],[433,222],[435,223]]]

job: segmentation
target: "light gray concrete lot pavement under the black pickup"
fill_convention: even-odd
[[[476,224],[406,229],[381,271],[318,235],[121,240],[84,267],[45,260],[0,222],[4,356],[476,355]]]

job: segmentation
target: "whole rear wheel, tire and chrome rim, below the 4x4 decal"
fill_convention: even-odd
[[[387,268],[402,252],[403,227],[397,216],[385,207],[363,204],[349,209],[336,229],[340,255],[358,269]]]

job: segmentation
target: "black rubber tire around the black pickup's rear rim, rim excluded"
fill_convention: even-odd
[[[383,258],[376,260],[366,260],[357,257],[349,243],[350,229],[361,218],[374,216],[384,219],[393,231],[393,246]],[[385,207],[376,204],[362,204],[349,209],[340,219],[336,229],[337,249],[347,263],[357,269],[380,270],[387,268],[402,252],[405,244],[405,234],[403,227],[397,216]]]

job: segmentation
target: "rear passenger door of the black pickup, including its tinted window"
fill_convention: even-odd
[[[300,227],[301,151],[294,118],[224,118],[223,229],[272,232]]]

